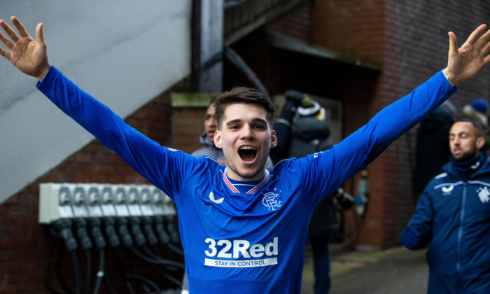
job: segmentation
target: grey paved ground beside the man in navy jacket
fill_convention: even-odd
[[[330,294],[426,293],[428,266],[425,250],[405,247],[385,251],[351,251],[332,254]],[[306,254],[302,294],[313,294],[313,265]]]

